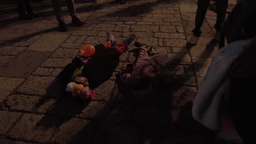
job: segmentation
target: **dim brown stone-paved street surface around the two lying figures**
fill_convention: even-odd
[[[75,1],[85,25],[73,26],[63,5],[67,32],[56,31],[50,0],[31,5],[38,17],[30,21],[18,19],[16,5],[0,6],[1,144],[214,143],[212,131],[193,121],[191,105],[218,51],[212,40],[216,13],[207,11],[199,43],[188,47],[195,0]],[[136,58],[129,51],[120,56],[113,76],[94,89],[92,101],[63,96],[57,75],[82,45],[106,41],[106,32],[119,43],[133,33],[135,41],[168,53],[158,97],[143,103],[120,89],[116,74]],[[129,50],[134,48],[132,43]]]

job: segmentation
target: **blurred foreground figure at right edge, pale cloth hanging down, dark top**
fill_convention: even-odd
[[[212,59],[193,104],[193,117],[205,127],[222,130],[229,113],[245,143],[254,141],[256,81],[256,1],[236,4],[221,31],[220,50]],[[224,38],[228,45],[224,46]],[[224,46],[224,47],[222,47]]]

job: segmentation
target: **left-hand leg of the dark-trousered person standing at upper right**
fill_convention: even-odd
[[[198,0],[197,1],[197,10],[195,17],[195,28],[193,29],[193,34],[197,37],[201,36],[201,27],[203,20],[205,19],[205,14],[207,12],[210,0]]]

